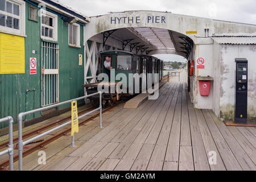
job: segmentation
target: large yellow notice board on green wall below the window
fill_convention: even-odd
[[[24,38],[0,33],[0,74],[17,73],[25,73]]]

